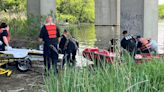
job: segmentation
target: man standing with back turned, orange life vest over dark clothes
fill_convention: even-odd
[[[43,57],[45,71],[49,71],[50,68],[54,68],[54,72],[58,73],[58,42],[60,38],[60,29],[56,24],[52,23],[52,17],[46,18],[46,24],[43,25],[39,35],[39,41],[44,42]],[[52,65],[51,65],[52,64]]]

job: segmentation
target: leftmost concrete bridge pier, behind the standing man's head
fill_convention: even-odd
[[[55,17],[55,12],[56,0],[27,0],[27,16],[35,24],[44,24],[45,17],[48,15]]]

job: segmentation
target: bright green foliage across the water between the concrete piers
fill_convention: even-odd
[[[75,22],[94,22],[94,0],[56,0],[57,17],[72,16]],[[67,16],[66,16],[67,17]],[[63,20],[66,18],[63,18]],[[72,22],[71,19],[68,19]]]

